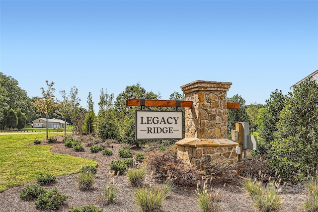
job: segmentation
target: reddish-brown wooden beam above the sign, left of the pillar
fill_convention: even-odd
[[[126,99],[127,106],[141,106],[141,99]],[[176,107],[176,100],[145,99],[145,107]],[[179,107],[192,107],[192,101],[180,101]]]

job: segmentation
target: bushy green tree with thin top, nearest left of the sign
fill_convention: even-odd
[[[114,94],[108,94],[100,90],[99,111],[95,124],[95,133],[102,140],[114,139],[119,137],[119,127],[117,122],[116,111],[113,109]]]

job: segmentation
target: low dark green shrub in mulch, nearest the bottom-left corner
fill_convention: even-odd
[[[57,189],[47,190],[44,194],[40,194],[38,199],[34,202],[39,209],[56,210],[69,196],[60,194]]]

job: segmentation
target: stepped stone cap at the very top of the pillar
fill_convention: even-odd
[[[227,92],[232,85],[232,82],[216,82],[196,80],[188,84],[182,85],[181,90],[184,94],[195,91],[225,91]]]

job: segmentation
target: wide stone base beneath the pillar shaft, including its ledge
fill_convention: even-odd
[[[186,138],[175,143],[177,145],[178,158],[184,163],[192,164],[197,169],[205,170],[203,162],[209,162],[217,158],[229,160],[233,163],[237,160],[237,142],[228,139],[200,140]]]

